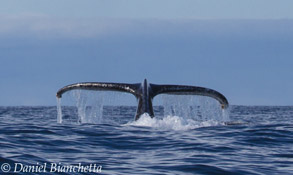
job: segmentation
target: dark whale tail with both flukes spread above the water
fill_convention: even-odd
[[[184,85],[148,84],[146,79],[143,81],[143,83],[137,84],[99,82],[76,83],[61,88],[57,92],[56,96],[58,98],[61,98],[63,93],[73,89],[120,91],[131,93],[138,99],[138,107],[135,115],[135,120],[138,120],[139,117],[144,113],[148,113],[151,117],[154,117],[152,100],[156,95],[159,94],[208,96],[218,100],[223,109],[229,106],[226,97],[212,89]]]

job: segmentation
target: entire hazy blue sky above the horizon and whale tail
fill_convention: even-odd
[[[293,105],[293,1],[2,0],[0,105],[83,81],[188,84]]]

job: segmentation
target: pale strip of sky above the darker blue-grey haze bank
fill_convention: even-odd
[[[63,17],[279,19],[292,0],[1,0],[2,14]]]

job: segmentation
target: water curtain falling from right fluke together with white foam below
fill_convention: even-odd
[[[200,127],[225,125],[230,121],[229,109],[222,109],[218,101],[210,97],[193,95],[160,95],[154,104],[161,105],[154,118],[147,113],[129,126],[145,126],[160,130],[190,130]]]

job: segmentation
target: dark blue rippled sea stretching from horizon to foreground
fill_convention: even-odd
[[[293,107],[230,106],[228,122],[62,110],[57,123],[56,106],[0,107],[0,174],[293,174]]]

